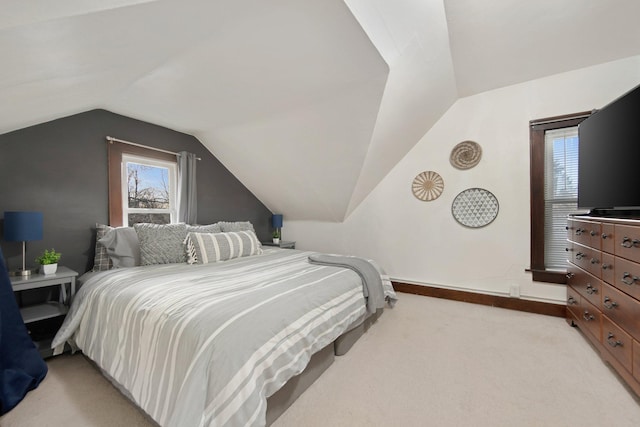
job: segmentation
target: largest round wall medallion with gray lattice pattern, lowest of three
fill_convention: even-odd
[[[498,216],[498,199],[483,188],[469,188],[453,199],[451,213],[465,227],[480,228],[489,225]]]

